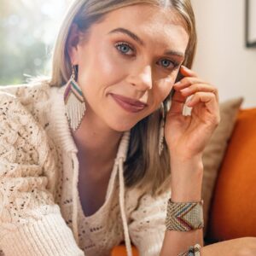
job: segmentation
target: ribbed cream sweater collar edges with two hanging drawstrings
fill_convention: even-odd
[[[79,177],[79,162],[76,157],[78,153],[78,148],[76,147],[73,137],[70,131],[70,127],[67,120],[66,108],[64,103],[64,92],[67,88],[67,84],[58,87],[52,88],[55,90],[55,93],[52,94],[53,109],[50,115],[51,120],[54,120],[54,129],[55,129],[55,140],[61,146],[62,150],[70,152],[72,154],[73,163],[74,163],[74,177],[73,177],[73,230],[76,241],[79,241],[78,238],[78,177]],[[119,206],[120,213],[123,222],[124,235],[125,235],[125,245],[128,256],[132,256],[131,252],[131,240],[128,231],[127,218],[125,216],[125,178],[124,178],[124,162],[126,160],[128,148],[130,142],[130,131],[125,131],[121,141],[119,143],[118,153],[114,161],[113,170],[118,171],[119,173]]]

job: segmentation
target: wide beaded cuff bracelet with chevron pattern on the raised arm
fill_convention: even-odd
[[[203,201],[172,202],[168,200],[166,229],[190,231],[203,228]]]

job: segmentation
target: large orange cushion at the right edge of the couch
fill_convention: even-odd
[[[219,170],[207,237],[256,236],[256,108],[241,110]]]

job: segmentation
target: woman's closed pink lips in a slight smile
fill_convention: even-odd
[[[140,112],[148,106],[147,104],[145,104],[143,102],[139,102],[137,100],[133,100],[133,99],[127,98],[125,96],[120,96],[120,95],[113,94],[113,93],[111,93],[110,95],[113,97],[115,102],[117,102],[119,104],[120,107],[122,107],[126,111],[129,111],[132,113]]]

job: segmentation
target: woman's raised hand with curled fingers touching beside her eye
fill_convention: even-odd
[[[186,67],[180,72],[184,78],[173,85],[172,106],[166,115],[165,138],[171,157],[184,160],[201,156],[217,127],[220,115],[218,90]],[[191,116],[183,116],[183,106],[193,107]]]

